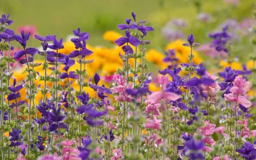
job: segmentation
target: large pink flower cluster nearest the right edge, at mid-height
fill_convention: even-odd
[[[236,102],[235,106],[237,106],[237,104],[241,104],[245,108],[249,108],[250,106],[252,106],[252,102],[250,102],[250,100],[244,97],[244,95],[252,87],[252,83],[250,83],[249,81],[246,81],[246,79],[243,79],[243,77],[237,76],[233,84],[234,86],[230,88],[231,93],[224,95],[225,99],[230,102]]]

